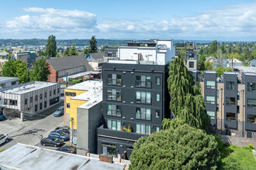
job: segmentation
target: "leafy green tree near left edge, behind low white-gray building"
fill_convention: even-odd
[[[19,77],[19,83],[29,82],[26,63],[22,60],[9,60],[2,66],[2,76]]]

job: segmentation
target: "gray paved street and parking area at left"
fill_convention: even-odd
[[[38,145],[40,141],[38,136],[40,134],[43,135],[43,138],[46,138],[50,131],[53,131],[58,126],[63,126],[64,117],[54,117],[53,115],[54,111],[61,105],[63,105],[63,102],[50,108],[39,117],[27,118],[23,122],[19,118],[0,121],[0,134],[9,134],[10,136],[9,142],[0,145],[0,149],[9,148],[17,143]]]

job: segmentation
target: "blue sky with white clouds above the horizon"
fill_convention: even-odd
[[[256,41],[255,0],[0,2],[0,39]]]

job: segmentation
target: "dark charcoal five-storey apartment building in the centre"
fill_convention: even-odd
[[[140,137],[161,130],[164,117],[171,116],[167,79],[168,64],[122,60],[102,64],[103,125],[97,129],[98,154],[129,158]]]

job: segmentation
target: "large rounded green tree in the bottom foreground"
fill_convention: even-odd
[[[216,169],[220,151],[213,135],[178,125],[140,138],[129,169]]]

